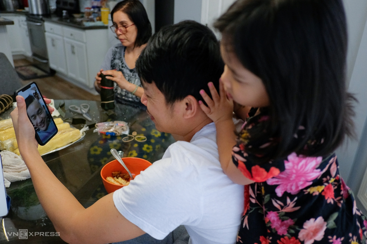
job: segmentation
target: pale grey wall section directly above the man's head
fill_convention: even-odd
[[[176,24],[186,19],[200,23],[201,0],[175,0],[173,23]]]

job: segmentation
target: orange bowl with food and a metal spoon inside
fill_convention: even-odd
[[[126,167],[130,170],[132,176],[137,176],[141,171],[152,165],[149,161],[142,158],[122,158]],[[114,192],[117,189],[124,187],[124,185],[116,185],[106,180],[107,177],[112,177],[112,172],[121,171],[121,173],[127,173],[124,166],[122,166],[116,159],[107,163],[101,170],[101,177],[103,185],[108,193]]]

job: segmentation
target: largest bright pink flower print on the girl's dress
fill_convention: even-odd
[[[321,161],[322,157],[297,157],[296,153],[292,153],[288,155],[288,161],[284,161],[286,170],[266,182],[269,185],[278,185],[275,192],[279,197],[285,191],[295,195],[320,176],[320,169],[316,167]]]

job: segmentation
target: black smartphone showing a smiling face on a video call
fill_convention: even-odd
[[[28,118],[36,131],[36,140],[41,146],[45,145],[57,134],[57,126],[36,82],[15,91],[14,95],[24,97]]]

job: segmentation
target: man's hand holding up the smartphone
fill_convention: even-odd
[[[46,104],[50,104],[51,100],[44,98]],[[54,109],[48,107],[50,112],[54,112]],[[29,149],[29,147],[36,148],[38,143],[35,137],[35,131],[32,123],[30,122],[27,109],[25,105],[24,98],[22,96],[17,96],[17,108],[15,108],[11,113],[11,120],[13,121],[15,137],[17,138],[19,152],[22,153]]]

